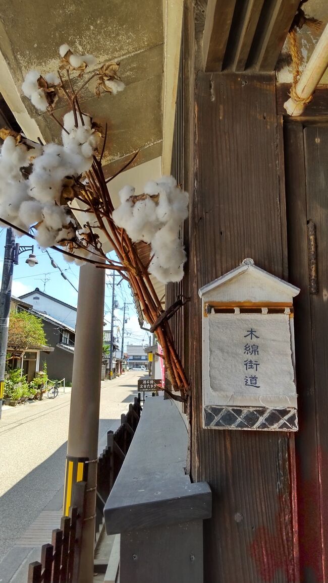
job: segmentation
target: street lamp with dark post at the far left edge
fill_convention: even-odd
[[[4,268],[2,269],[1,294],[0,294],[0,419],[2,411],[2,398],[5,387],[6,354],[8,345],[9,314],[11,311],[12,295],[12,275],[13,266],[18,265],[18,258],[21,253],[31,251],[26,259],[27,265],[34,267],[38,261],[33,254],[33,245],[15,244],[15,236],[12,229],[7,229]]]

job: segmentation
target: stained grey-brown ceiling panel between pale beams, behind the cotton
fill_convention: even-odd
[[[162,152],[162,0],[0,0],[0,48],[18,92],[27,71],[56,71],[58,48],[68,43],[76,52],[95,55],[99,64],[120,61],[122,93],[95,96],[95,83],[81,92],[83,111],[107,122],[104,163],[116,168],[136,150],[140,164]],[[97,67],[91,68],[90,73]],[[72,76],[76,78],[77,73]],[[85,73],[83,80],[88,73]],[[75,79],[77,85],[81,79]],[[22,96],[27,112],[43,137],[60,139],[60,128],[46,114],[37,113]],[[55,115],[67,111],[63,98]],[[107,168],[110,173],[111,168]]]

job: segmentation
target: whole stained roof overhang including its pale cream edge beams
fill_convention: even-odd
[[[63,0],[56,8],[50,0],[36,0],[33,6],[0,0],[0,10],[0,93],[29,138],[61,140],[58,125],[48,113],[35,110],[21,86],[30,69],[56,71],[58,48],[68,43],[78,52],[95,55],[98,66],[120,62],[123,92],[96,97],[91,83],[80,94],[83,112],[108,125],[106,177],[139,150],[131,167],[109,183],[114,205],[123,185],[134,185],[138,194],[146,181],[170,173],[183,0]],[[77,86],[83,82],[77,73],[72,78]],[[54,114],[61,118],[66,111],[61,97]],[[83,222],[83,215],[77,217]],[[103,245],[110,251],[107,241]],[[154,283],[162,297],[165,286]]]

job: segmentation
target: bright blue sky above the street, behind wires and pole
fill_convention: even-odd
[[[2,263],[4,260],[5,241],[6,229],[0,229],[1,274]],[[34,241],[29,237],[23,236],[16,238],[16,243],[19,243],[20,245],[32,245]],[[51,258],[54,259],[55,263],[65,273],[65,276],[68,278],[69,282],[71,282],[72,285],[78,289],[79,267],[77,265],[67,263],[63,255],[58,251],[49,249],[48,252],[51,255]],[[34,245],[34,255],[36,255],[39,264],[33,268],[30,268],[30,266],[25,262],[29,256],[29,253],[26,252],[20,254],[19,264],[15,265],[13,269],[12,294],[16,297],[22,296],[28,291],[33,291],[36,287],[39,287],[41,291],[45,291],[49,296],[53,296],[58,300],[65,301],[67,304],[71,304],[76,307],[78,302],[78,293],[68,281],[62,278],[59,269],[53,268],[46,252],[37,245]],[[114,254],[110,255],[114,258]],[[113,278],[110,274],[111,272],[108,271],[106,275],[104,321],[108,322],[108,324],[106,325],[105,329],[110,329],[111,319],[111,282]],[[120,279],[121,278],[116,274],[116,285],[118,282],[120,282]],[[128,322],[125,324],[124,347],[126,346],[127,342],[130,344],[144,343],[145,345],[148,345],[148,333],[139,328],[137,314],[132,303],[131,291],[127,285],[127,282],[121,281],[120,285],[116,287],[116,300],[118,301],[118,309],[114,311],[114,334],[118,336],[119,343],[121,342],[121,329],[123,323],[123,309],[120,308],[123,308],[125,300],[129,305],[127,306],[127,311],[125,312],[125,318],[128,318]]]

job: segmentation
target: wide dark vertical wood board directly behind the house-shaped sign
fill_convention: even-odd
[[[273,75],[201,73],[190,209],[192,477],[207,481],[205,581],[296,581],[288,452],[293,437],[203,430],[199,287],[252,257],[282,276]]]

